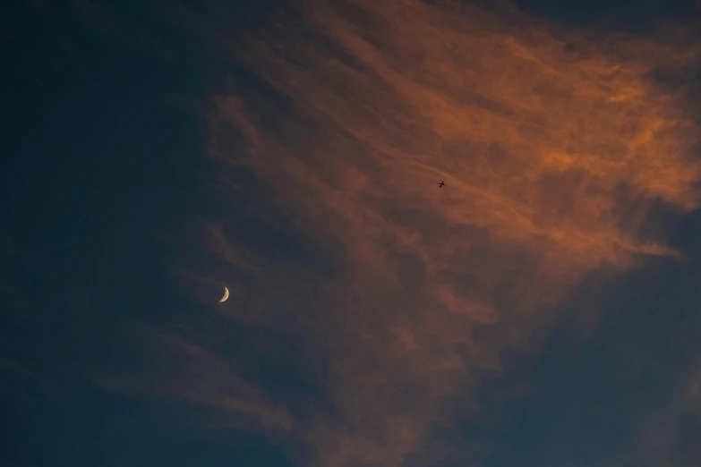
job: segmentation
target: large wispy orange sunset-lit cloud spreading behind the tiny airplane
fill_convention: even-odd
[[[698,59],[691,38],[594,38],[413,0],[308,1],[271,22],[219,38],[253,78],[203,115],[212,183],[234,205],[248,189],[230,170],[251,174],[286,219],[260,224],[304,254],[244,242],[222,211],[203,274],[242,291],[218,319],[293,342],[320,392],[275,408],[294,398],[285,381],[230,377],[225,361],[254,363],[183,356],[180,341],[197,356],[181,378],[198,385],[154,390],[284,426],[322,466],[455,455],[436,430],[474,409],[503,352],[537,348],[583,276],[680,255],[652,220],[699,204],[691,89],[670,85]]]

